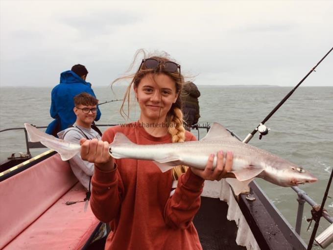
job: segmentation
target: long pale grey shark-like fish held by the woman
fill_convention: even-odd
[[[80,151],[78,144],[47,135],[32,125],[24,124],[24,126],[30,141],[40,141],[46,147],[56,150],[63,160],[70,159]],[[110,154],[115,159],[151,160],[162,172],[178,165],[204,169],[212,153],[215,155],[214,169],[219,150],[233,152],[233,166],[230,172],[236,178],[227,178],[226,180],[233,188],[235,195],[248,193],[248,184],[255,177],[283,187],[317,181],[317,178],[304,168],[268,151],[239,141],[218,123],[214,123],[207,135],[200,141],[138,145],[118,132],[114,141],[109,145]],[[224,155],[224,157],[226,156]]]

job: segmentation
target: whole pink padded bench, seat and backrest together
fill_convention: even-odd
[[[0,249],[81,249],[99,221],[58,154],[0,182]]]

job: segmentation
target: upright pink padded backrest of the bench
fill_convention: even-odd
[[[1,181],[0,249],[39,218],[75,183],[77,179],[69,163],[62,161],[59,154]],[[82,196],[81,194],[80,199]],[[64,206],[65,208],[68,211],[71,207]],[[66,224],[61,217],[54,217],[54,220]],[[33,234],[30,236],[34,237]]]

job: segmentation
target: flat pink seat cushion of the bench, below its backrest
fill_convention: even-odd
[[[3,250],[61,250],[81,249],[99,221],[90,204],[84,212],[85,202],[66,205],[66,201],[83,200],[85,189],[77,183],[33,224],[11,241]]]

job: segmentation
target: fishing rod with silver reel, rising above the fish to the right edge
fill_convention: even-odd
[[[326,55],[321,58],[321,60],[309,71],[309,73],[303,77],[303,79],[294,87],[286,96],[284,99],[282,99],[278,105],[265,117],[265,119],[262,120],[261,124],[259,124],[251,133],[249,133],[245,139],[243,140],[244,143],[248,143],[252,137],[259,131],[260,136],[259,139],[262,139],[263,135],[268,134],[269,128],[267,128],[264,124],[268,121],[268,119],[282,106],[282,104],[285,103],[286,100],[294,93],[294,91],[298,88],[299,85],[313,72],[315,71],[315,68],[325,59],[325,57],[333,50],[333,48],[326,53]]]

